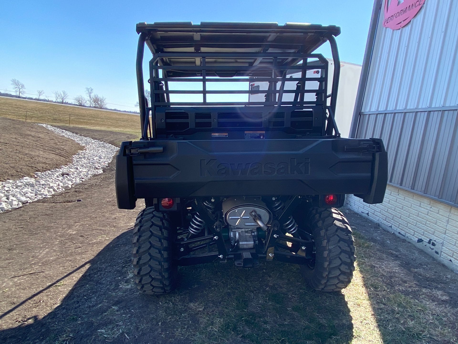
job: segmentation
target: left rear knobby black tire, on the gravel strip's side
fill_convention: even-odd
[[[146,208],[138,214],[132,239],[132,265],[135,284],[143,293],[161,295],[176,288],[175,236],[168,215],[154,208]]]

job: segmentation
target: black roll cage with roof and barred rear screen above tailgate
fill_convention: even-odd
[[[141,140],[208,139],[241,129],[273,131],[272,138],[340,137],[334,120],[340,75],[335,36],[340,28],[298,23],[279,26],[277,23],[155,22],[138,23],[136,30],[140,34],[136,75]],[[313,53],[326,41],[334,62],[329,95],[327,60]],[[145,44],[153,54],[148,79],[151,104],[144,89]],[[307,77],[306,72],[311,69],[319,69],[321,73]],[[291,70],[300,71],[301,76],[287,78]],[[209,99],[218,94],[252,92],[208,87],[213,83],[253,81],[269,82],[269,88],[262,91],[266,94],[264,102]],[[286,81],[297,81],[296,89],[284,89]],[[173,89],[174,82],[197,83],[200,89]],[[311,82],[316,87],[311,88]],[[285,93],[293,93],[294,100],[283,101]],[[199,101],[171,100],[176,94],[196,94]],[[310,94],[316,100],[311,100]],[[239,138],[236,134],[233,137]]]

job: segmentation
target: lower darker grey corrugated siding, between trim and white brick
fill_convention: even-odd
[[[458,111],[360,116],[357,138],[383,139],[388,182],[458,205]]]

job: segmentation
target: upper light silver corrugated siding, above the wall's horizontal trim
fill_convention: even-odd
[[[458,105],[458,1],[426,0],[399,30],[382,21],[361,111]]]

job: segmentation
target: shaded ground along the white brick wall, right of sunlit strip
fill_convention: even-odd
[[[354,229],[358,272],[380,341],[458,343],[458,275],[365,217],[348,209],[344,214]]]

